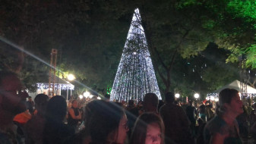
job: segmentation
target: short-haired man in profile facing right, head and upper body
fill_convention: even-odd
[[[235,89],[223,89],[219,95],[216,116],[204,128],[204,143],[240,144],[239,125],[235,120],[242,114],[242,101]]]

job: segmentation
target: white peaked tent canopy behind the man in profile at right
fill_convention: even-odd
[[[239,80],[235,80],[235,81],[233,81],[232,83],[229,83],[228,85],[223,86],[222,88],[217,89],[217,90],[214,91],[214,92],[220,93],[221,90],[226,89],[226,88],[229,88],[229,89],[236,89],[236,90],[238,90],[239,92],[241,92],[241,84],[240,84],[240,83],[242,83],[242,82],[240,82]],[[254,89],[253,87],[247,85],[247,93],[256,94],[256,89]]]

